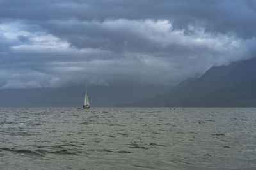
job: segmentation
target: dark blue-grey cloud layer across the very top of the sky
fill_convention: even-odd
[[[177,28],[202,25],[206,31],[255,35],[256,3],[253,0],[217,1],[1,1],[1,18],[35,21],[170,20]],[[246,25],[246,27],[245,27]]]

